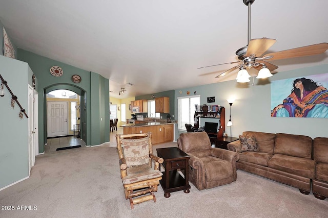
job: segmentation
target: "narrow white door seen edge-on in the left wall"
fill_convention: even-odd
[[[28,152],[29,152],[29,174],[31,172],[32,166],[35,163],[35,138],[34,138],[34,89],[29,85],[29,101],[28,101],[28,124],[29,124],[29,144],[28,144]]]

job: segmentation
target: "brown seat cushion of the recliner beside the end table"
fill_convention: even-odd
[[[231,162],[217,157],[208,156],[200,158],[205,166],[206,181],[219,181],[232,176],[233,168]]]

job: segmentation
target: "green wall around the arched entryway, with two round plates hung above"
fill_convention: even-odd
[[[79,69],[25,50],[18,49],[18,51],[18,59],[29,64],[38,81],[39,153],[44,152],[44,145],[47,142],[46,93],[63,87],[81,95],[81,102],[83,102],[80,120],[81,139],[87,146],[108,142],[109,136],[106,136],[108,135],[106,133],[109,133],[109,80],[95,72]],[[52,66],[61,67],[63,76],[52,76],[50,74]],[[72,82],[71,77],[75,74],[81,77],[80,83]],[[105,116],[106,114],[108,116]]]

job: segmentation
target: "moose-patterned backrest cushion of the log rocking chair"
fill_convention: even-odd
[[[122,139],[127,166],[139,166],[149,162],[149,137],[139,139]]]

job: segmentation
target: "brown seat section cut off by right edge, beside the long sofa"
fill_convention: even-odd
[[[328,138],[313,139],[313,152],[316,164],[316,178],[312,180],[314,197],[328,198]]]

